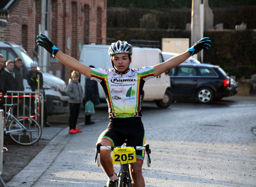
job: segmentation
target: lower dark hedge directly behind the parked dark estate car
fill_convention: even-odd
[[[250,78],[256,74],[256,29],[246,31],[205,31],[212,40],[210,50],[204,50],[204,62],[219,65],[229,75]],[[158,40],[191,38],[190,31],[141,28],[107,28],[107,38],[118,40]],[[161,47],[160,47],[161,48]]]

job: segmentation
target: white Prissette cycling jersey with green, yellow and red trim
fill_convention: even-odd
[[[100,82],[105,92],[110,118],[142,116],[143,86],[150,78],[154,78],[154,66],[129,69],[123,75],[114,68],[91,68],[91,79]]]

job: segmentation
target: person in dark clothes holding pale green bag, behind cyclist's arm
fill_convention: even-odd
[[[89,66],[91,68],[95,68],[94,66]],[[94,106],[100,104],[100,97],[98,93],[98,84],[97,81],[92,80],[90,78],[85,77],[85,97],[84,97],[84,105],[87,101],[91,100]],[[85,114],[85,125],[94,124],[94,121],[91,121],[91,115]]]

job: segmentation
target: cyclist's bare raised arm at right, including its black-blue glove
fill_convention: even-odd
[[[154,76],[156,77],[161,73],[164,73],[165,71],[180,65],[182,62],[187,60],[190,56],[197,54],[202,49],[209,49],[210,45],[208,43],[211,43],[211,40],[208,40],[208,39],[209,39],[208,37],[202,38],[184,53],[174,56],[168,59],[167,61],[162,62],[161,64],[155,65]]]

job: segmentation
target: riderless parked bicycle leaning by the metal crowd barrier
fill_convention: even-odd
[[[41,126],[35,119],[30,116],[15,117],[11,114],[11,108],[16,107],[18,104],[5,104],[9,107],[6,112],[7,117],[5,120],[4,133],[9,134],[10,138],[20,145],[32,145],[39,141],[42,136]]]

